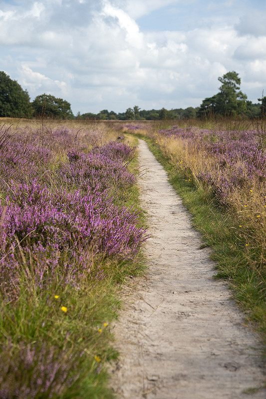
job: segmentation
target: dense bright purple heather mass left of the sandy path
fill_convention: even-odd
[[[90,272],[91,261],[88,256],[83,259],[83,253],[89,252],[91,257],[101,253],[131,258],[144,239],[143,229],[136,226],[136,212],[115,206],[108,196],[111,185],[116,189],[127,188],[135,181],[121,161],[73,150],[68,158],[70,162],[65,164],[61,175],[83,191],[50,192],[36,181],[31,185],[13,185],[7,191],[6,205],[0,208],[0,285],[5,295],[8,292],[7,270],[12,276],[10,294],[14,293],[14,282],[19,281],[20,270],[17,262],[13,263],[13,248],[17,247],[17,242],[20,251],[16,258],[23,251],[27,262],[30,256],[35,259],[31,268],[34,267],[36,284],[42,287],[44,281],[49,283],[59,272],[68,282],[71,279],[78,284],[80,274]],[[4,256],[6,253],[8,255]],[[73,263],[78,263],[78,268],[71,268]]]

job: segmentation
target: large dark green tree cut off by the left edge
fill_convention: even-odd
[[[32,108],[26,90],[10,79],[5,72],[0,72],[0,117],[30,118]]]

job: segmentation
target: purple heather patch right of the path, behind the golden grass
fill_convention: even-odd
[[[260,140],[254,131],[210,131],[174,126],[159,131],[159,134],[181,138],[184,146],[193,153],[202,154],[205,161],[196,177],[211,185],[222,203],[232,203],[232,194],[236,191],[250,192],[254,182],[265,186],[266,153],[260,148]],[[183,163],[186,165],[185,161]],[[266,204],[265,197],[260,200],[261,204]]]

